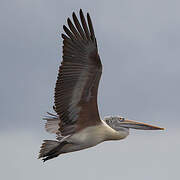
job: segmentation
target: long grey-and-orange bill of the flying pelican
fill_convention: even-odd
[[[125,119],[119,125],[125,128],[133,128],[133,129],[140,129],[140,130],[164,130],[164,128],[161,128],[161,127],[152,126],[149,124],[136,122],[136,121],[128,120],[128,119]]]

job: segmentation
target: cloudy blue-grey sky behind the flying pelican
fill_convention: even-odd
[[[0,1],[0,177],[3,179],[178,179],[180,1]],[[36,159],[41,120],[52,110],[62,25],[90,12],[103,76],[99,111],[167,128],[132,131],[119,142]],[[12,173],[9,173],[12,172]],[[85,178],[86,177],[86,178]]]

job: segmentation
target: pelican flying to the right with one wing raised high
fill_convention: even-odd
[[[89,13],[72,13],[63,26],[63,60],[55,86],[55,114],[48,113],[45,129],[56,134],[56,141],[44,140],[39,158],[44,162],[63,153],[96,146],[103,141],[121,140],[129,129],[163,130],[157,126],[121,116],[99,116],[97,93],[102,74],[96,37]]]

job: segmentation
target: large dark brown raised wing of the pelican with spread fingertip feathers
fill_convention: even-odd
[[[63,26],[63,61],[55,87],[55,111],[63,136],[87,126],[101,123],[97,107],[97,91],[102,73],[96,38],[89,14],[88,25],[82,10],[80,22],[75,13],[68,27]]]

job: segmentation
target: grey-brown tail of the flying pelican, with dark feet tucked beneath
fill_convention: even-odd
[[[41,150],[39,152],[38,158],[43,158],[42,160],[45,162],[49,159],[55,158],[61,154],[61,148],[67,144],[66,141],[52,141],[52,140],[44,140],[41,145]]]

